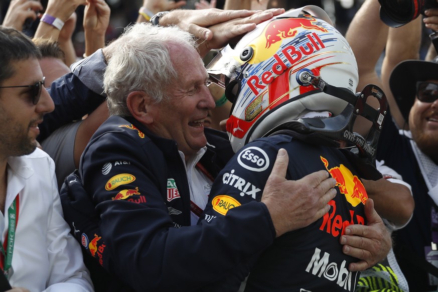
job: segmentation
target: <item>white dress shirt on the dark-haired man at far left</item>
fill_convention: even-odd
[[[53,160],[40,149],[8,159],[6,204],[0,213],[2,243],[8,231],[8,209],[20,194],[8,278],[12,286],[32,292],[92,291],[79,243],[63,218],[54,169]]]

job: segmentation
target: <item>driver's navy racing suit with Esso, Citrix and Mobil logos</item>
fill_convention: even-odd
[[[368,196],[355,169],[337,148],[311,145],[288,135],[250,142],[216,178],[201,224],[217,225],[233,210],[260,201],[280,148],[289,156],[287,179],[298,180],[327,170],[337,181],[338,194],[323,218],[276,238],[252,268],[251,264],[247,266],[251,272],[245,292],[354,291],[360,272],[350,272],[348,265],[358,259],[342,252],[339,238],[349,224],[366,224],[364,203]],[[260,234],[261,240],[263,237]],[[231,236],[229,240],[234,241]],[[212,285],[211,290],[236,291],[229,285],[239,282],[235,277],[243,280],[245,275],[236,270],[234,275]]]

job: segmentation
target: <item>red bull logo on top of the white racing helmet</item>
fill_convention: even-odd
[[[265,48],[268,49],[271,45],[283,39],[295,37],[298,28],[327,32],[325,28],[314,24],[315,22],[317,20],[310,15],[304,15],[302,18],[277,19],[270,22],[264,30]]]

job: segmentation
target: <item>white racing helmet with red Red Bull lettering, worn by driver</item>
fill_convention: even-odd
[[[374,149],[367,150],[377,143],[386,98],[374,85],[354,94],[356,59],[321,8],[290,10],[257,25],[233,48],[223,48],[207,72],[233,102],[226,128],[235,152],[256,138],[291,129],[362,143],[359,150],[375,157]],[[366,103],[368,96],[378,99],[379,109]],[[369,141],[353,131],[357,115],[371,121]]]

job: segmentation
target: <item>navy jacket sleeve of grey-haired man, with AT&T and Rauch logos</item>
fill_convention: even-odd
[[[166,174],[151,172],[164,157],[148,158],[149,146],[131,138],[99,137],[81,162],[101,220],[94,239],[105,241],[110,260],[103,258],[103,265],[110,273],[136,290],[193,291],[272,243],[269,213],[256,201],[209,224],[175,228],[164,201]]]

